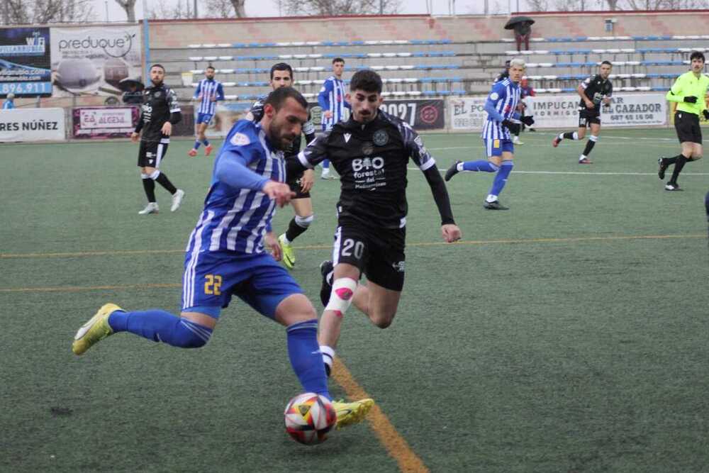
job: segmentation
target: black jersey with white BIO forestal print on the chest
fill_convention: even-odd
[[[422,171],[435,165],[420,136],[408,123],[378,111],[362,124],[350,119],[335,123],[298,155],[312,168],[329,159],[340,174],[340,218],[366,226],[403,228],[406,225],[406,167],[411,157]]]

